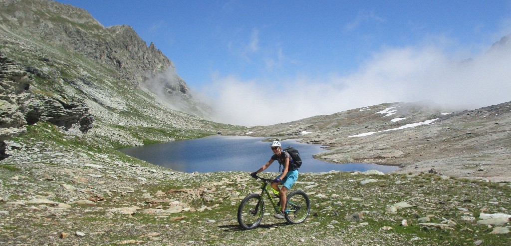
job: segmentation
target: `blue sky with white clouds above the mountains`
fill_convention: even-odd
[[[223,111],[220,121],[243,125],[287,122],[386,100],[466,105],[464,97],[433,96],[445,88],[432,80],[458,80],[446,77],[445,64],[484,56],[492,43],[511,33],[509,0],[58,2],[89,11],[105,27],[133,27],[174,62],[197,94],[213,97]],[[444,65],[431,68],[435,64]],[[452,69],[462,75],[468,68]],[[416,74],[436,75],[417,81]],[[484,78],[507,78],[494,75]],[[498,87],[501,81],[489,82]],[[463,83],[451,87],[461,90]],[[362,88],[353,90],[357,86],[378,90],[370,90],[365,100],[350,98],[353,93],[364,97]],[[417,87],[422,92],[413,91]],[[291,99],[298,96],[307,99]],[[484,106],[505,97],[476,101]],[[276,102],[293,107],[292,116],[275,119]],[[247,107],[254,110],[247,114]]]

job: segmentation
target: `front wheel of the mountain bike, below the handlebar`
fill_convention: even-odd
[[[264,215],[264,200],[259,194],[247,195],[238,208],[238,223],[245,230],[256,228]]]

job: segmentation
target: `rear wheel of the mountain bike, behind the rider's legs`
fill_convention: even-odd
[[[289,223],[297,224],[304,222],[309,215],[311,201],[304,191],[297,190],[287,196],[286,213],[284,217]]]

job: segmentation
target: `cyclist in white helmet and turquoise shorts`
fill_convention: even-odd
[[[280,195],[280,202],[279,204],[286,204],[287,202],[287,196],[286,193],[291,189],[293,184],[298,179],[298,169],[294,168],[294,165],[290,165],[293,163],[293,159],[291,158],[291,155],[289,155],[288,152],[282,151],[282,145],[278,141],[273,141],[270,144],[271,151],[273,151],[273,155],[271,156],[270,160],[264,164],[259,170],[250,173],[250,175],[253,178],[257,178],[256,175],[262,171],[264,171],[266,168],[268,168],[273,161],[278,161],[280,165],[284,166],[284,170],[282,173],[275,177],[275,180],[271,182],[271,187],[278,191]],[[283,185],[282,188],[278,188],[278,185]],[[284,218],[284,211],[286,209],[286,206],[281,207],[280,213],[275,214],[275,218],[283,219]]]

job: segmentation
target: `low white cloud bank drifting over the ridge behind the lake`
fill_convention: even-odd
[[[509,37],[509,36],[508,36]],[[457,60],[435,47],[386,49],[349,76],[291,81],[214,79],[213,120],[271,125],[385,102],[475,109],[511,101],[511,42]],[[210,93],[211,94],[211,93]]]

